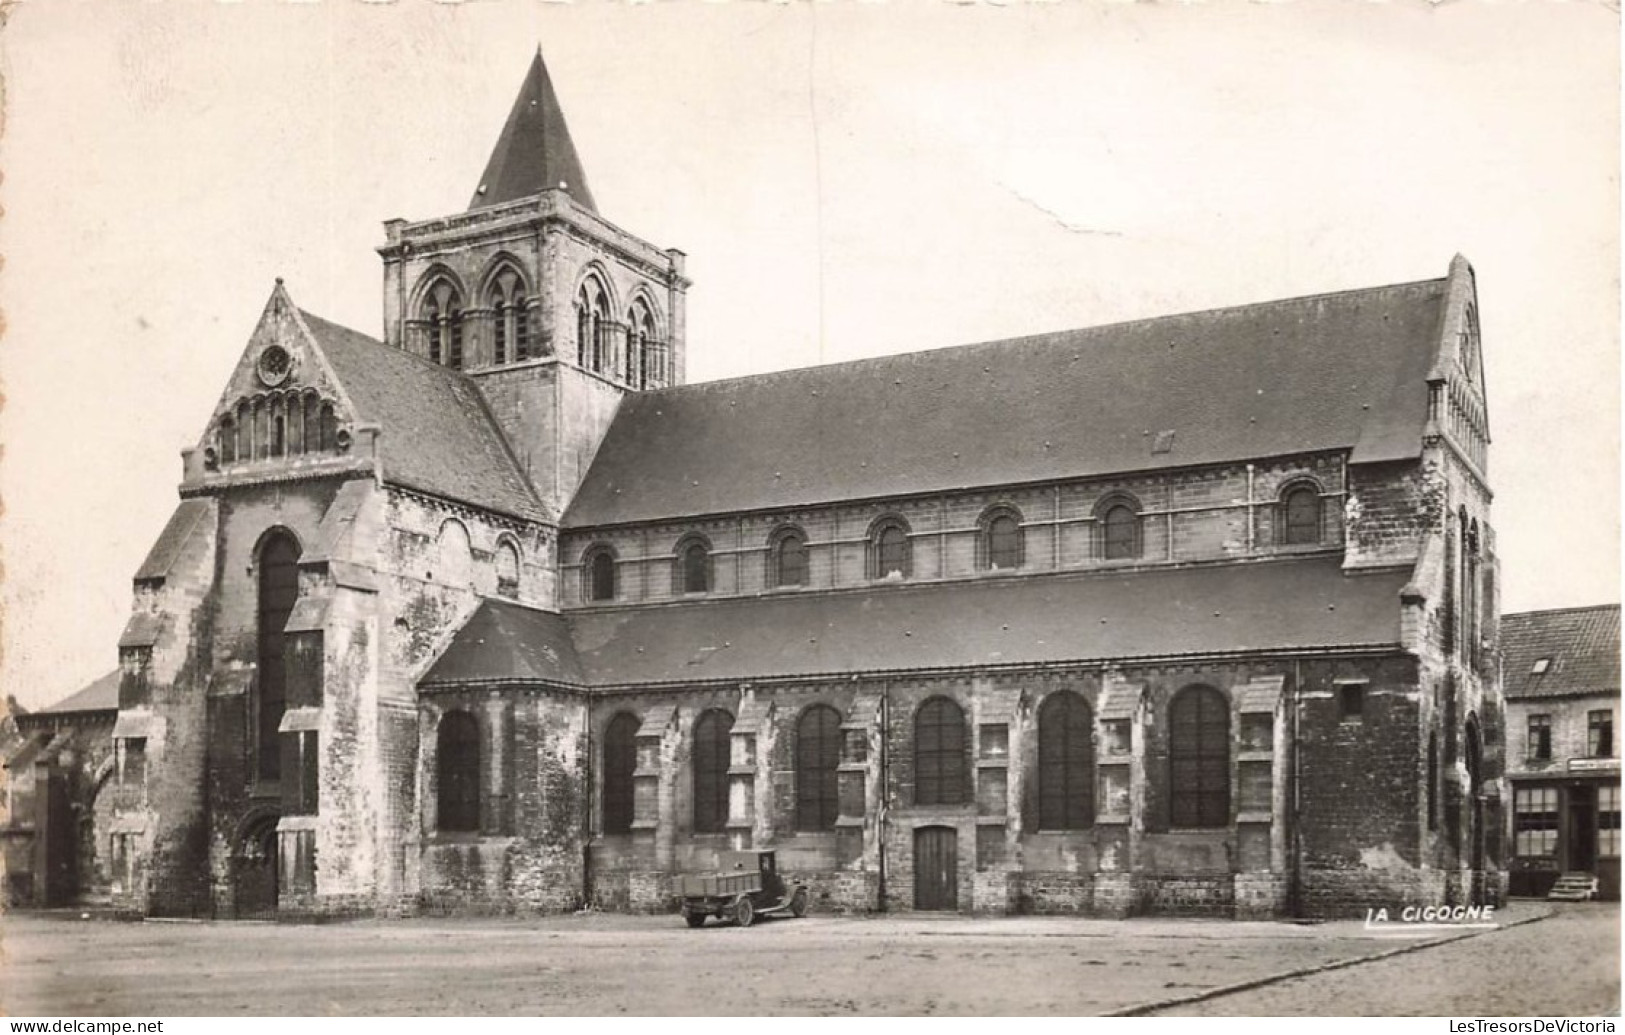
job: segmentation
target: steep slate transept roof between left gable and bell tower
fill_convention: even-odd
[[[526,520],[551,520],[471,380],[301,310],[356,418],[382,426],[384,479]]]

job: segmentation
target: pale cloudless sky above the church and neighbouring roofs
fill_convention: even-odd
[[[531,52],[708,380],[1479,275],[1506,611],[1618,601],[1618,13],[1597,3],[24,0],[3,45],[0,691],[117,665],[273,279],[377,335]]]

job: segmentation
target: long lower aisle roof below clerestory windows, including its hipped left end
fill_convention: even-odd
[[[1396,647],[1407,578],[1406,570],[1346,575],[1337,557],[1302,557],[704,600],[564,617],[486,601],[424,682],[650,686]]]

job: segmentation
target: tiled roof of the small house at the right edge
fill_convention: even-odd
[[[1550,658],[1545,673],[1534,665]],[[1502,616],[1502,686],[1508,700],[1620,692],[1620,606]]]

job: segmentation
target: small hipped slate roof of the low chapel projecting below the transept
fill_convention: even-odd
[[[419,681],[582,684],[564,617],[505,600],[484,600]]]

